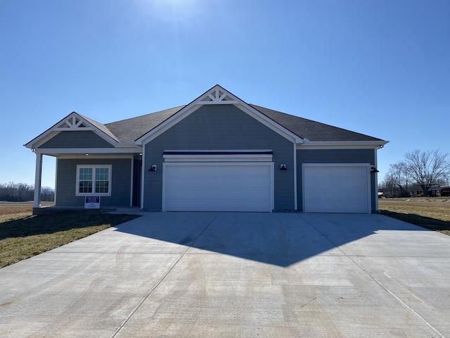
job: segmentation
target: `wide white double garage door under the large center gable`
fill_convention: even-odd
[[[163,211],[273,209],[272,163],[165,163]]]

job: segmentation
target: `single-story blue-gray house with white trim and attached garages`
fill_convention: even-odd
[[[216,85],[186,106],[113,123],[70,113],[25,144],[56,157],[56,206],[144,211],[378,210],[383,139],[247,104]],[[39,189],[34,211],[39,211]]]

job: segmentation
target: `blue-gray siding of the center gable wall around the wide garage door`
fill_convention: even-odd
[[[162,152],[165,150],[274,151],[274,210],[294,210],[293,142],[233,105],[202,106],[145,146],[143,208],[162,209]],[[288,170],[280,171],[285,163]],[[150,165],[158,170],[149,172]]]

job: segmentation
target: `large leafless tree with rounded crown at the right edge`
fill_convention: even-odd
[[[439,149],[406,153],[404,161],[406,168],[409,175],[422,188],[423,196],[428,196],[428,189],[449,175],[450,163],[446,159],[448,155],[441,153]]]

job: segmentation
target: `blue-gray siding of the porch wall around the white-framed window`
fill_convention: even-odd
[[[112,165],[111,196],[101,196],[101,208],[130,206],[131,157],[116,159],[58,159],[56,206],[84,208],[84,196],[75,196],[77,165]]]

